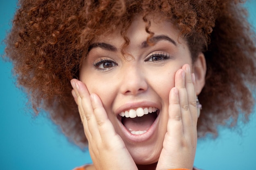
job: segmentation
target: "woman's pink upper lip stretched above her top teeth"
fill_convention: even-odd
[[[152,102],[152,101],[140,101],[140,102],[126,102],[126,104],[121,105],[118,107],[115,111],[115,115],[118,115],[122,111],[127,111],[130,109],[137,109],[137,108],[145,108],[145,107],[155,107],[157,109],[160,109],[159,104]]]

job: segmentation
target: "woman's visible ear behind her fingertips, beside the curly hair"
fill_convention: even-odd
[[[205,75],[206,75],[206,61],[204,54],[200,52],[198,58],[193,63],[193,72],[195,74],[195,93],[199,95],[202,91],[205,84]]]

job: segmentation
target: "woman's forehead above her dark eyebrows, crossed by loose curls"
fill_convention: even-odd
[[[160,16],[148,17],[149,22],[144,22],[142,16],[135,17],[131,24],[125,29],[117,28],[111,33],[103,33],[95,37],[93,43],[106,42],[111,44],[124,44],[125,39],[128,39],[129,44],[139,43],[147,40],[149,37],[164,35],[170,37],[175,42],[183,41],[181,38],[178,41],[179,31],[174,28],[171,21],[162,20]],[[147,30],[148,28],[148,30]],[[123,33],[121,33],[123,32]]]

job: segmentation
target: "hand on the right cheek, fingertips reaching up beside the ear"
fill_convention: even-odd
[[[175,74],[175,87],[169,94],[167,133],[157,170],[193,168],[198,120],[194,82],[188,64]]]

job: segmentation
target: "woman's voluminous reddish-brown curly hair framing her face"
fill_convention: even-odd
[[[218,135],[218,124],[234,126],[240,114],[248,119],[254,107],[256,47],[239,0],[20,0],[5,52],[35,113],[47,111],[67,137],[86,144],[70,80],[78,77],[95,37],[119,28],[123,47],[128,46],[126,31],[138,14],[148,41],[153,35],[148,16],[160,15],[188,42],[193,61],[204,52],[198,137]]]

